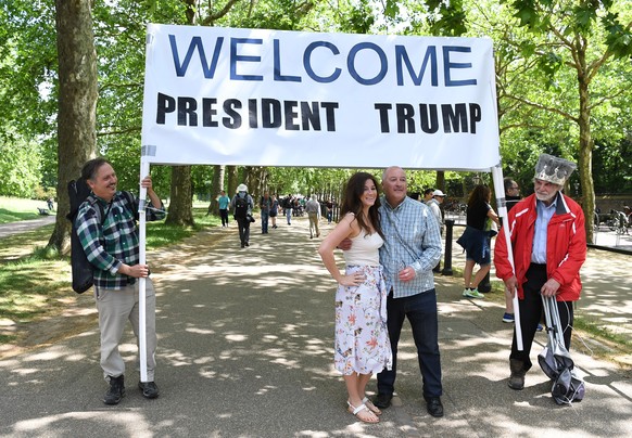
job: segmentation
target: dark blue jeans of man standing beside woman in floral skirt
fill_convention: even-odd
[[[387,299],[389,337],[393,350],[393,369],[378,374],[378,394],[392,395],[397,375],[397,344],[404,319],[408,318],[413,328],[413,339],[417,346],[417,358],[422,377],[424,397],[440,397],[441,358],[439,355],[439,322],[437,314],[437,292],[434,288],[403,298]]]

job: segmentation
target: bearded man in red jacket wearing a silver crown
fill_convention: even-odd
[[[579,271],[586,258],[583,211],[579,204],[561,193],[576,168],[574,163],[564,158],[540,156],[535,166],[535,193],[511,208],[504,226],[509,227],[515,270],[509,263],[506,240],[496,240],[496,275],[505,282],[509,293],[518,293],[522,328],[522,351],[517,348],[514,331],[508,382],[511,389],[524,387],[524,374],[532,365],[529,353],[542,317],[541,295],[556,297],[565,327],[564,342],[567,349],[570,347],[572,301],[580,297]]]

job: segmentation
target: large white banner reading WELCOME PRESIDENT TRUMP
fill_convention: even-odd
[[[149,25],[143,160],[488,170],[492,41]]]

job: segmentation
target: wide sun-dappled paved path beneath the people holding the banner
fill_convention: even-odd
[[[443,276],[437,289],[446,415],[426,413],[405,326],[394,407],[380,424],[356,422],[332,366],[336,286],[318,241],[308,239],[306,219],[279,223],[267,235],[253,227],[244,249],[230,228],[148,254],[159,292],[160,398],[146,400],[136,387],[128,333],[127,396],[116,407],[101,402],[106,386],[94,326],[0,361],[0,437],[632,436],[630,370],[573,350],[586,382],[581,403],[556,405],[538,365],[526,389],[514,391],[506,384],[511,326],[501,321],[502,306],[464,299],[460,282]],[[89,305],[89,296],[80,299]],[[544,343],[538,335],[533,360]]]

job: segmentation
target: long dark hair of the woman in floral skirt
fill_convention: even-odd
[[[362,196],[364,195],[364,184],[366,180],[371,180],[374,184],[376,184],[378,197],[376,198],[376,203],[370,206],[368,211],[368,220],[370,221],[374,229],[378,232],[378,234],[384,239],[384,234],[382,233],[382,228],[380,227],[380,186],[376,177],[367,172],[357,172],[351,176],[346,185],[344,188],[344,194],[342,196],[342,206],[340,207],[340,215],[341,217],[346,215],[347,212],[353,212],[355,215],[355,219],[357,220],[357,224],[362,230],[364,230],[367,234],[370,233],[369,226],[365,222],[364,214],[363,214],[363,205],[362,205]]]

